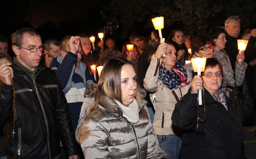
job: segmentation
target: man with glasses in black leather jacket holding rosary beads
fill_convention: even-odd
[[[0,65],[0,127],[8,157],[59,158],[61,139],[69,158],[77,159],[65,95],[54,71],[39,65],[40,35],[22,28],[11,38],[16,57],[12,65]]]

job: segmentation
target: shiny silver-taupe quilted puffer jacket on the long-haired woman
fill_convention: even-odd
[[[139,112],[139,122],[130,123],[119,105],[101,96],[99,106],[85,118],[80,143],[85,158],[160,158],[146,101]]]

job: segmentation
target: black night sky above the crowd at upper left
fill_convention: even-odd
[[[100,15],[104,3],[107,1],[0,0],[0,34],[9,37],[18,28],[29,26],[43,41],[81,32],[95,34],[107,25]]]

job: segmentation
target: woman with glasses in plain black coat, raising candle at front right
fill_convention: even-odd
[[[209,46],[204,46],[209,47]],[[179,158],[242,158],[244,131],[229,98],[220,90],[222,63],[208,58],[186,95],[175,104],[173,125],[183,130]],[[198,89],[203,104],[198,105]]]

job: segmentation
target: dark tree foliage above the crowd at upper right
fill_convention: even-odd
[[[165,18],[168,33],[181,28],[191,35],[202,34],[211,27],[224,26],[231,15],[240,16],[242,29],[253,28],[255,8],[254,0],[111,0],[102,14],[106,20],[120,22],[121,37],[125,39],[131,33],[153,30],[151,19],[157,16]]]

